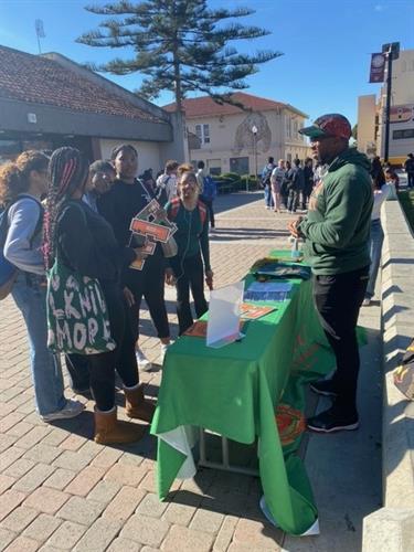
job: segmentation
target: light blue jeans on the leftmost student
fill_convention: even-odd
[[[47,349],[46,288],[40,282],[39,276],[21,272],[11,294],[28,330],[35,404],[44,416],[64,408],[66,399],[60,359]]]

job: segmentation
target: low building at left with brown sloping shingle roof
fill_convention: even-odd
[[[181,125],[182,127],[182,125]],[[63,55],[0,46],[0,162],[25,149],[74,146],[91,160],[128,141],[139,170],[184,159],[180,117]]]

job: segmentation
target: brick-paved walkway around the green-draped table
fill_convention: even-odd
[[[254,193],[217,199],[217,231],[211,238],[216,286],[240,279],[270,248],[287,246],[288,216],[266,211],[259,200]],[[173,289],[167,299],[177,335]],[[371,329],[363,349],[361,429],[309,439],[306,464],[322,534],[308,539],[286,538],[265,522],[253,477],[203,469],[194,480],[177,482],[170,500],[159,502],[155,439],[96,445],[92,403],[78,418],[42,423],[34,412],[24,326],[12,300],[0,309],[0,551],[360,550],[362,517],[380,506],[379,364],[372,362],[380,354],[378,307],[363,316]],[[140,344],[155,362],[141,380],[156,396],[159,343],[146,314],[141,329]]]

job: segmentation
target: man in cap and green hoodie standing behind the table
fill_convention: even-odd
[[[349,147],[351,125],[343,115],[322,115],[299,132],[309,136],[314,159],[326,171],[312,191],[307,216],[291,222],[289,230],[305,238],[315,305],[337,361],[331,379],[311,384],[312,391],[333,402],[309,418],[308,427],[322,433],[357,429],[360,358],[355,329],[370,268],[370,162]]]

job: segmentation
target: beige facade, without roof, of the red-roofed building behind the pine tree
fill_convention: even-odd
[[[242,173],[254,174],[256,149],[258,173],[269,156],[275,160],[287,159],[288,156],[291,159],[304,159],[308,147],[305,139],[297,134],[304,121],[302,116],[287,109],[188,118],[187,128],[195,135],[198,125],[202,128],[203,125],[209,125],[210,141],[205,142],[202,132],[201,148],[190,151],[191,161],[204,161],[206,168],[213,169],[215,173],[232,172],[238,166]],[[256,140],[252,131],[253,126],[257,128]]]

